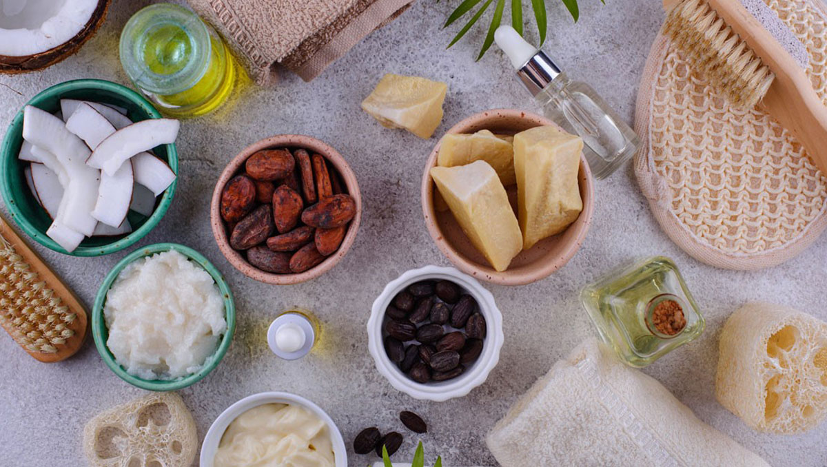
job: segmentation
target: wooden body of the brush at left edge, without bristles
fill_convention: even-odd
[[[55,295],[60,297],[63,304],[69,307],[69,310],[76,315],[74,322],[69,325],[69,329],[74,331],[74,336],[69,337],[65,345],[60,345],[56,352],[32,352],[25,347],[23,349],[36,360],[44,363],[54,363],[68,359],[80,350],[81,345],[84,343],[87,322],[86,310],[84,310],[78,298],[74,296],[74,293],[63,284],[63,281],[41,260],[41,257],[38,256],[34,250],[31,250],[29,245],[26,245],[26,242],[17,235],[17,232],[8,225],[2,216],[0,216],[0,236],[12,244],[17,255],[20,255],[22,260],[26,264],[29,264],[29,269],[37,273],[40,280],[45,282],[46,287],[51,288]],[[10,335],[14,335],[13,330],[7,329],[6,331],[8,331]]]

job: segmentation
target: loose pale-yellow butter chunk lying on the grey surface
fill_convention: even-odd
[[[385,74],[370,96],[362,101],[368,112],[383,126],[404,128],[428,139],[442,122],[446,83],[417,76]]]

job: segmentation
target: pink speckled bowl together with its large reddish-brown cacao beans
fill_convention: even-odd
[[[280,169],[272,165],[278,162],[276,156],[287,157],[283,150],[288,150],[293,157],[292,174],[284,178],[263,180],[268,178],[269,171],[276,174]],[[272,157],[262,160],[261,151],[273,151],[269,153]],[[299,151],[303,154],[301,157]],[[254,155],[256,157],[253,157]],[[275,163],[272,163],[272,160],[275,160]],[[329,183],[322,183],[323,187],[317,189],[317,180],[326,180],[318,174],[323,174],[325,170]],[[257,179],[251,177],[251,172]],[[304,183],[306,177],[313,183]],[[310,190],[313,193],[305,191],[308,185],[313,186]],[[265,189],[261,189],[262,186]],[[232,191],[233,195],[227,194],[226,199],[235,200],[237,198],[234,197],[239,194],[248,197],[251,189],[256,193],[256,199],[251,203],[223,203],[222,195],[225,188],[227,192]],[[269,189],[272,190],[272,194],[267,191]],[[267,199],[271,200],[270,204],[264,203]],[[280,212],[293,207],[298,210],[293,211],[299,212],[294,222],[285,222],[284,216],[275,215],[272,207],[276,199],[280,200]],[[342,201],[347,203],[341,203]],[[347,204],[347,211],[352,214],[351,220],[343,227],[343,233],[335,232],[333,228],[323,229],[305,225],[304,221],[317,225],[318,222],[323,225],[330,222],[330,217],[326,215],[329,214],[329,209],[323,208],[340,207],[342,204]],[[230,219],[229,222],[227,218]],[[359,184],[356,183],[356,175],[350,165],[330,145],[304,135],[270,136],[247,146],[223,170],[213,190],[210,205],[213,236],[227,261],[247,277],[274,285],[299,284],[315,279],[332,269],[350,250],[356,239],[356,231],[359,230],[360,219]],[[242,223],[242,227],[251,228],[240,228],[239,231],[245,235],[237,235],[233,242],[233,229]],[[265,225],[269,226],[269,230],[263,227]],[[322,235],[323,232],[329,235]],[[275,240],[268,242],[271,238]],[[253,243],[255,245],[251,245]],[[337,244],[335,249],[331,247],[328,250],[313,246]],[[275,250],[271,249],[270,245]],[[304,252],[299,258],[299,250],[303,249]],[[324,254],[319,253],[319,250],[323,250]],[[287,264],[293,263],[299,266],[299,272],[283,269],[287,268]]]

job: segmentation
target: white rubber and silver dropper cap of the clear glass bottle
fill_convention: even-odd
[[[508,55],[517,70],[517,77],[534,96],[562,73],[560,67],[543,50],[528,44],[511,26],[498,27],[494,41]]]

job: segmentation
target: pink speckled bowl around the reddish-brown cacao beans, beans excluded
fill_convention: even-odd
[[[316,153],[323,155],[323,157],[330,164],[332,164],[333,168],[338,172],[347,193],[350,194],[356,201],[356,217],[353,217],[353,220],[347,227],[347,233],[345,234],[345,238],[342,240],[342,245],[339,246],[339,249],[315,267],[299,274],[269,273],[258,269],[256,266],[253,266],[247,262],[246,257],[242,255],[241,252],[233,250],[230,246],[230,239],[227,235],[227,224],[224,222],[218,211],[224,185],[227,184],[232,177],[243,170],[244,163],[247,158],[259,150],[284,147],[291,150],[304,148],[311,154]],[[356,231],[359,230],[361,211],[361,195],[359,193],[359,183],[356,183],[356,174],[353,174],[351,166],[347,164],[345,159],[337,152],[337,150],[334,150],[331,146],[323,143],[323,141],[319,141],[311,136],[276,135],[247,146],[241,151],[241,153],[234,157],[229,164],[227,164],[227,167],[222,172],[221,177],[218,178],[218,183],[215,184],[215,189],[213,190],[213,201],[210,204],[209,215],[210,223],[213,226],[213,236],[215,236],[215,241],[218,243],[218,248],[233,267],[241,271],[241,273],[247,277],[256,279],[265,284],[288,285],[299,284],[304,281],[317,278],[332,269],[332,267],[335,266],[339,260],[342,260],[344,255],[347,255],[347,250],[350,250],[351,245],[353,245],[353,241],[356,239]]]

